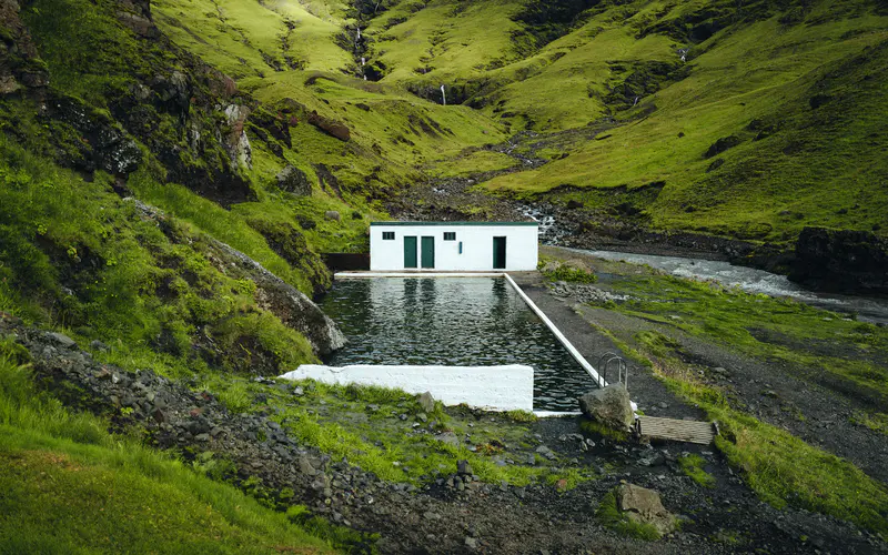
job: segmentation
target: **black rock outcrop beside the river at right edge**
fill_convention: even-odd
[[[805,228],[789,279],[829,291],[888,293],[888,240],[868,231]]]

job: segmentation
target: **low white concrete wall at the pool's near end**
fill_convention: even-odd
[[[533,411],[534,369],[507,366],[387,366],[354,365],[331,367],[303,364],[281,377],[317,380],[346,385],[400,387],[407,393],[431,392],[445,405],[466,403],[491,411]]]

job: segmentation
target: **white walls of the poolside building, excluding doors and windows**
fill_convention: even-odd
[[[383,240],[383,232],[394,232],[394,240]],[[444,233],[456,233],[455,241],[444,241]],[[421,262],[422,239],[435,239],[435,268],[433,270],[483,272],[493,268],[493,238],[506,238],[507,272],[536,270],[537,235],[535,224],[391,224],[373,223],[370,228],[370,269],[380,271],[403,271],[404,236],[415,236],[416,260]],[[460,243],[463,252],[460,253]],[[417,264],[421,265],[421,264]],[[422,271],[423,269],[416,269]]]

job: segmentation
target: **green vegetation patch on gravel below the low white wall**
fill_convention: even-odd
[[[418,395],[395,389],[312,380],[280,381],[269,387],[243,379],[204,377],[201,389],[221,392],[220,400],[230,406],[246,412],[274,407],[273,417],[300,442],[386,481],[426,484],[455,473],[460,460],[494,484],[551,483],[565,490],[595,478],[592,470],[561,468],[542,458],[533,466],[497,464],[533,453],[537,442],[531,425],[536,418],[526,412],[483,413],[440,402],[427,411]]]

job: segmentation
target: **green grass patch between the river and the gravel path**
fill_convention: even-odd
[[[633,299],[616,310],[660,321],[693,335],[716,341],[763,361],[780,361],[801,377],[828,372],[857,394],[888,400],[888,331],[790,299],[726,289],[668,275],[615,283]],[[674,350],[674,341],[644,336],[654,353]],[[837,341],[838,340],[838,341]]]

